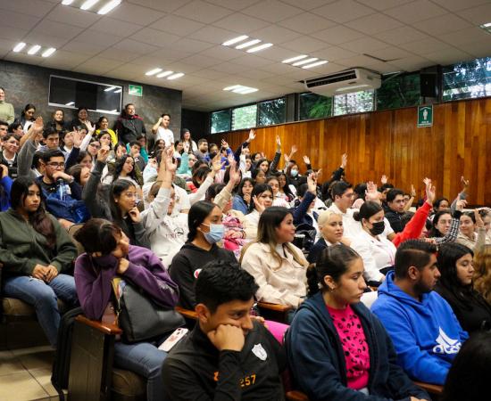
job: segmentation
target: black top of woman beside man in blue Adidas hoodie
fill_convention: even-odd
[[[458,297],[457,289],[452,291],[442,282],[437,283],[435,291],[450,304],[463,330],[470,334],[472,331],[491,329],[491,305],[479,292],[464,289],[461,291],[462,297]]]

